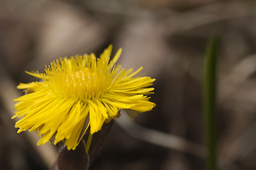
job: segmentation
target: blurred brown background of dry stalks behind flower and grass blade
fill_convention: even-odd
[[[152,78],[156,108],[115,123],[98,169],[200,170],[204,156],[203,56],[218,49],[218,168],[256,169],[256,3],[221,0],[1,0],[0,169],[50,169],[57,149],[16,134],[18,83],[59,57],[123,48],[119,64]],[[143,128],[142,128],[143,127]],[[138,135],[139,133],[139,135]],[[136,135],[137,134],[137,135]]]

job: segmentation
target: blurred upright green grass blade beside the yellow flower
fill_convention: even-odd
[[[203,121],[207,147],[207,169],[216,169],[216,60],[218,38],[208,43],[203,73]]]

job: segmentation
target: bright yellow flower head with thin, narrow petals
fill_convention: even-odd
[[[111,52],[112,45],[100,58],[94,54],[65,57],[51,62],[43,74],[27,72],[42,81],[18,85],[32,91],[14,100],[18,103],[12,118],[21,118],[15,125],[18,132],[38,132],[38,145],[64,141],[68,149],[75,149],[87,130],[91,135],[101,130],[106,120],[117,118],[120,109],[151,111],[155,104],[146,95],[153,93],[148,86],[155,79],[134,77],[142,67],[132,72],[116,66],[122,50],[110,61]]]

